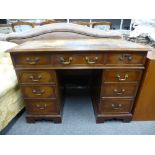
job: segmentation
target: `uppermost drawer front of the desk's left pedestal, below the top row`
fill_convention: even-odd
[[[55,71],[17,71],[18,79],[21,84],[24,83],[43,83],[55,84],[56,74]]]

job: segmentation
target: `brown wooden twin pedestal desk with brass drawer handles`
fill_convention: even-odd
[[[144,46],[123,39],[38,40],[9,52],[25,100],[27,122],[62,122],[61,71],[67,70],[91,70],[90,94],[97,123],[132,120],[146,67],[148,49]]]

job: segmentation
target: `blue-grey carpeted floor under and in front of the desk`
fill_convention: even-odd
[[[91,99],[84,92],[68,94],[65,99],[63,122],[50,121],[28,124],[26,113],[20,115],[3,134],[6,135],[154,135],[155,121],[95,123]]]

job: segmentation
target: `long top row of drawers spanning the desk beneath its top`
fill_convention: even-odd
[[[95,54],[94,54],[95,53]],[[109,52],[108,54],[100,54],[100,52],[85,52],[79,53],[79,52],[73,52],[73,54],[68,53],[51,53],[48,54],[42,53],[22,53],[22,54],[12,54],[12,59],[14,64],[17,67],[25,67],[31,69],[34,68],[40,68],[40,67],[49,67],[49,68],[73,68],[74,67],[84,67],[84,68],[96,68],[96,67],[138,67],[143,68],[145,63],[145,54],[144,52],[142,54],[133,54],[133,53],[125,53],[125,54],[114,54],[114,52]],[[51,56],[52,54],[52,56]],[[123,60],[120,60],[123,55],[129,55],[132,57],[131,60],[128,60],[128,58],[125,58]]]

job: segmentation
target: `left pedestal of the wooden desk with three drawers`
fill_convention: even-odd
[[[16,73],[26,103],[27,122],[43,119],[61,123],[63,99],[56,71],[22,69]]]

